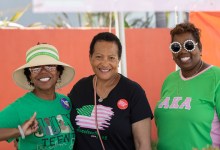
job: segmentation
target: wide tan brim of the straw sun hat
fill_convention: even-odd
[[[24,69],[41,65],[61,65],[64,67],[63,74],[61,75],[61,82],[56,84],[56,89],[62,88],[63,86],[70,83],[75,75],[75,70],[70,65],[47,56],[37,56],[31,62],[19,67],[13,72],[12,78],[16,85],[25,90],[33,90],[34,87],[31,86],[27,81],[27,78],[24,74]]]

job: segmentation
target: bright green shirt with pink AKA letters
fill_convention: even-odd
[[[156,105],[158,150],[199,150],[220,146],[220,69],[212,66],[192,78],[180,71],[164,81]]]

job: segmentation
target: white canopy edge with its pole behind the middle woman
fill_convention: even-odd
[[[127,76],[123,12],[128,11],[219,11],[220,0],[33,0],[33,11],[117,12],[116,34],[123,46],[120,72]],[[175,18],[176,19],[176,18]]]

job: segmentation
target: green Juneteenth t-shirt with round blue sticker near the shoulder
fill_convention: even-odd
[[[36,112],[38,132],[20,138],[19,150],[71,150],[75,142],[71,108],[67,96],[56,93],[56,99],[48,101],[29,92],[0,112],[0,128],[17,128]]]

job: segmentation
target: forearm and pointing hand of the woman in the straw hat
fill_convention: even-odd
[[[24,135],[30,135],[37,131],[38,122],[36,120],[36,113],[22,125]],[[18,128],[0,128],[0,141],[8,140],[10,138],[17,138],[21,136]]]

